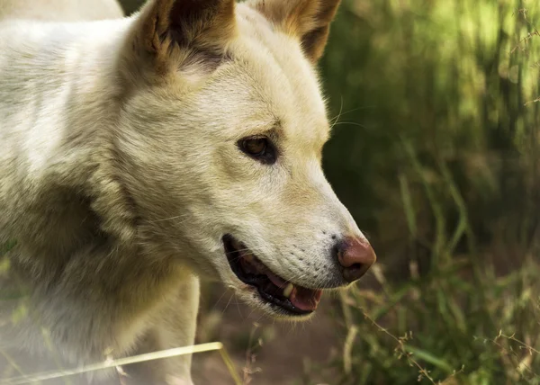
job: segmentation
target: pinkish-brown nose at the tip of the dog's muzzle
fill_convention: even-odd
[[[364,237],[347,237],[338,246],[338,261],[347,282],[362,277],[376,260],[373,247]]]

